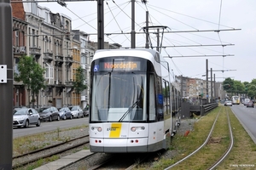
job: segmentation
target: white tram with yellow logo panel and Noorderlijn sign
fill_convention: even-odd
[[[97,50],[90,72],[90,151],[166,149],[177,122],[165,59],[152,49]]]

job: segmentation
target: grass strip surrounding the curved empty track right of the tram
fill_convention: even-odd
[[[216,128],[212,132],[212,138],[206,147],[199,150],[195,156],[189,157],[183,163],[178,164],[172,169],[207,169],[212,163],[224,154],[230,144],[229,127],[227,124],[226,111],[230,116],[230,123],[234,135],[234,147],[230,155],[222,162],[217,169],[255,169],[256,167],[256,144],[247,134],[241,123],[230,110],[230,107],[218,106],[210,111],[207,116],[202,116],[198,122],[194,123],[193,130],[188,136],[177,134],[172,140],[170,149],[167,152],[169,156],[162,156],[158,161],[150,163],[150,166],[143,165],[137,169],[165,169],[175,162],[188,156],[191,152],[201,146],[207,139],[212,123],[218,114],[219,119],[216,122]],[[238,167],[238,168],[237,168]]]

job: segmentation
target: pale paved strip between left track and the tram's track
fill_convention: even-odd
[[[49,162],[48,164],[43,165],[42,167],[35,168],[34,170],[57,170],[62,167],[67,167],[73,162],[80,161],[86,156],[93,154],[90,150],[81,150],[73,155],[64,156],[59,160]]]

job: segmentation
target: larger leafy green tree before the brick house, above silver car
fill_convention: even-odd
[[[44,88],[44,69],[32,58],[32,56],[22,56],[18,63],[18,73],[15,73],[15,81],[23,82],[28,91],[28,101],[30,92],[32,93],[32,107],[34,107],[35,95],[38,98],[39,90]],[[37,99],[38,101],[38,99]]]

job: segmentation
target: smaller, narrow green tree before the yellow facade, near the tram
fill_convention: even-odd
[[[73,88],[76,94],[81,93],[87,86],[84,84],[85,76],[81,66],[78,67],[75,73],[75,81],[73,82]]]

